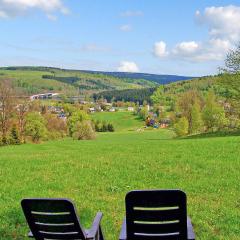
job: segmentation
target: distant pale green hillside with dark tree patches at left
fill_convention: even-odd
[[[147,80],[125,79],[100,73],[86,73],[45,67],[0,68],[0,80],[11,78],[16,87],[27,94],[39,92],[62,92],[73,95],[91,94],[104,90],[141,89],[157,84]]]

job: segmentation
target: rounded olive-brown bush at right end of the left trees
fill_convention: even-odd
[[[73,129],[73,139],[91,140],[95,139],[96,134],[90,121],[77,122]]]

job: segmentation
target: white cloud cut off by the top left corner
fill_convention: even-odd
[[[21,16],[33,9],[43,11],[50,20],[56,20],[53,13],[69,13],[62,0],[0,0],[0,18]]]

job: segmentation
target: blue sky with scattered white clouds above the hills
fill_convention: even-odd
[[[0,66],[215,74],[239,22],[239,1],[0,0]]]

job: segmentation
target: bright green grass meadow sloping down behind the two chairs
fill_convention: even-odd
[[[132,189],[182,189],[197,239],[240,239],[240,137],[176,139],[170,130],[136,131],[143,122],[131,113],[107,115],[94,117],[111,118],[117,131],[93,141],[0,148],[0,239],[27,239],[27,197],[72,199],[86,228],[100,210],[106,239],[118,239]]]

